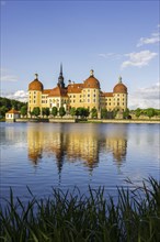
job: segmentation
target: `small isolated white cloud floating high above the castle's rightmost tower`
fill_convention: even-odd
[[[128,66],[136,66],[136,67],[142,67],[147,66],[149,62],[156,57],[158,54],[150,51],[141,51],[141,52],[133,52],[129,54],[126,54],[125,56],[128,56],[129,59],[126,62],[123,62],[122,69],[126,68]]]

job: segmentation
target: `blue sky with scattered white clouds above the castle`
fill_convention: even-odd
[[[160,109],[160,2],[1,0],[0,96],[26,100],[35,73],[45,89],[83,82],[90,69],[101,90],[122,76],[128,108]]]

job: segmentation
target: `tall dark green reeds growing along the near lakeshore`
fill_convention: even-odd
[[[128,180],[128,183],[130,183]],[[149,177],[134,190],[117,188],[118,200],[104,188],[89,195],[53,189],[47,199],[14,202],[12,189],[0,209],[0,241],[4,242],[158,242],[160,185]]]

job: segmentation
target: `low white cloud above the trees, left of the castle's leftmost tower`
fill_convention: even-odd
[[[26,102],[27,101],[27,91],[24,91],[24,90],[16,90],[15,92],[2,92],[1,94],[1,97],[5,97],[5,98],[9,98],[9,99],[15,99],[15,100],[19,100],[19,101],[24,101]]]

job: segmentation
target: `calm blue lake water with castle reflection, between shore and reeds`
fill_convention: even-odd
[[[0,195],[9,188],[23,200],[78,186],[114,193],[144,178],[159,179],[159,124],[1,123]],[[3,205],[1,199],[1,204]]]

